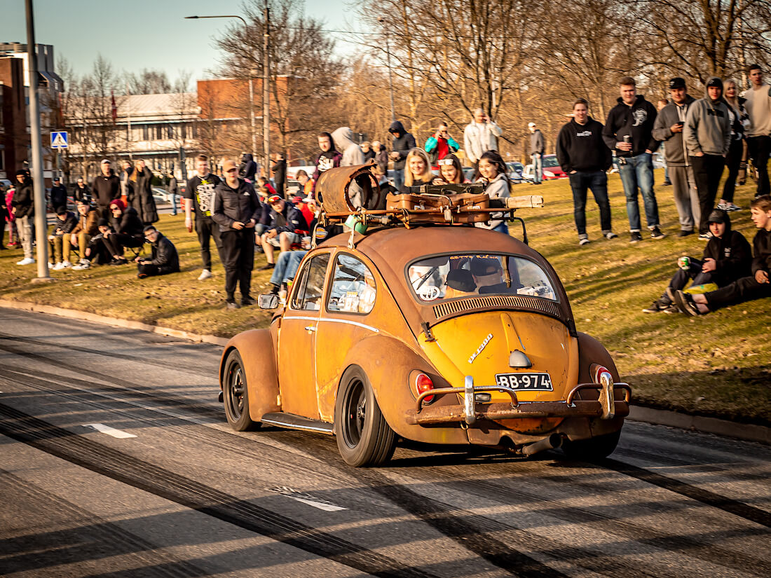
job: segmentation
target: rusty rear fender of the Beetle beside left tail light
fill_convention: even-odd
[[[423,371],[429,375],[436,388],[449,387],[449,383],[437,373],[436,368],[422,354],[409,348],[403,341],[385,335],[373,335],[363,339],[348,351],[345,357],[344,370],[351,365],[359,365],[365,371],[372,384],[380,412],[398,435],[416,442],[469,443],[460,425],[447,427],[446,425],[411,425],[406,422],[405,414],[415,406],[417,398],[409,384],[410,372]],[[456,402],[456,397],[445,395],[436,401],[436,405],[449,405]]]

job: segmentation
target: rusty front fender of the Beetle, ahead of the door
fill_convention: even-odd
[[[220,361],[220,388],[224,378],[225,360],[234,349],[244,362],[249,398],[249,417],[259,422],[270,412],[280,412],[278,371],[274,338],[270,329],[251,329],[227,341]]]

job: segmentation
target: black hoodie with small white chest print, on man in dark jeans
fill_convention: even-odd
[[[557,136],[557,160],[565,173],[571,170],[608,170],[613,163],[611,150],[602,139],[602,123],[589,116],[587,123],[575,119],[565,124]]]

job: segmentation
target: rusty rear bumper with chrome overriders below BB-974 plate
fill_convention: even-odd
[[[581,390],[598,391],[598,399],[574,399]],[[480,403],[476,394],[488,391],[503,391],[507,393],[509,403]],[[623,399],[617,400],[616,392],[623,393]],[[430,395],[463,394],[463,405],[424,406],[423,400]],[[436,423],[465,422],[472,425],[478,419],[501,420],[517,418],[601,418],[613,419],[629,415],[629,400],[631,388],[626,383],[603,384],[584,383],[571,389],[564,402],[520,402],[517,392],[497,385],[474,386],[470,376],[466,376],[466,386],[463,388],[442,388],[424,391],[418,398],[416,408],[405,414],[405,421],[411,425],[427,425]]]

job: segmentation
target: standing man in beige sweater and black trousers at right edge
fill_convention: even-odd
[[[763,70],[753,64],[748,71],[752,86],[744,93],[744,108],[752,126],[747,133],[747,149],[758,171],[756,197],[771,193],[769,186],[769,153],[771,153],[771,86],[763,84]]]

